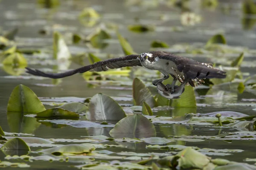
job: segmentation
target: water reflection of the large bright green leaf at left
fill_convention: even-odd
[[[23,112],[7,112],[8,125],[14,133],[33,133],[41,123],[34,117],[24,116]]]

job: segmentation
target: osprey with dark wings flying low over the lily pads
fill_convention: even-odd
[[[164,77],[154,80],[152,82],[153,85],[157,85],[158,82],[163,82],[163,80],[168,79],[169,75],[171,75],[173,82],[171,85],[166,85],[166,88],[172,92],[175,91],[175,83],[177,80],[181,82],[182,86],[186,84],[195,87],[198,84],[202,85],[202,83],[204,83],[203,79],[206,78],[226,77],[225,71],[213,68],[211,63],[197,62],[193,59],[164,51],[149,51],[142,54],[131,54],[124,57],[107,59],[64,73],[44,73],[30,68],[26,68],[26,72],[35,76],[59,79],[86,71],[107,71],[108,68],[122,68],[128,66],[143,66],[151,70],[160,71]]]

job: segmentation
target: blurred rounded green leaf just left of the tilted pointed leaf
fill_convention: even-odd
[[[105,30],[97,28],[92,34],[87,37],[87,40],[90,40],[90,44],[94,48],[105,48],[108,43],[104,40],[110,39],[111,36]]]

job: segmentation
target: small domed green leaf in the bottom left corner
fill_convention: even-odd
[[[11,139],[9,141],[6,142],[6,144],[4,144],[2,147],[1,147],[1,150],[4,152],[4,153],[14,153],[12,150],[15,150],[15,152],[17,153],[18,151],[17,150],[20,150],[22,151],[23,153],[28,153],[30,151],[30,148],[29,146],[26,144],[26,142],[24,142],[22,139],[20,138],[14,138],[14,139]],[[13,154],[12,154],[13,155]]]

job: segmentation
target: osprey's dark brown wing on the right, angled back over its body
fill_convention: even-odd
[[[152,51],[151,53],[153,53]],[[211,63],[201,63],[197,62],[193,59],[189,59],[186,57],[177,56],[174,54],[170,54],[163,51],[156,51],[155,55],[157,55],[160,59],[171,60],[177,65],[177,69],[186,77],[190,79],[205,79],[205,78],[225,78],[225,71],[221,71],[218,68],[213,68]]]

